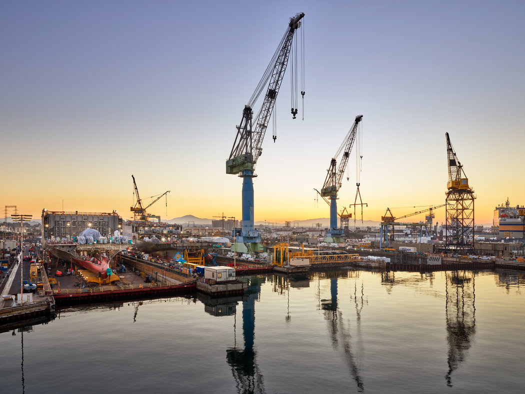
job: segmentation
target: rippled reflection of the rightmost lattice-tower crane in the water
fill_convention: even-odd
[[[446,272],[446,325],[448,343],[447,386],[452,372],[464,362],[476,334],[475,275],[467,271]]]

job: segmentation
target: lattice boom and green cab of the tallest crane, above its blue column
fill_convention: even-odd
[[[281,39],[279,47],[272,57],[272,61],[268,65],[249,103],[245,105],[243,109],[243,118],[240,121],[240,125],[237,126],[237,135],[232,151],[226,161],[226,173],[228,174],[238,174],[243,170],[254,170],[255,163],[257,163],[257,159],[262,153],[262,140],[268,127],[271,112],[274,109],[282,77],[285,75],[286,66],[288,65],[293,35],[300,27],[300,20],[303,16],[304,13],[298,13],[295,17],[290,18],[290,23],[288,24],[285,35]],[[260,94],[262,86],[266,84],[268,79],[270,83],[266,90],[262,107],[257,115],[255,129],[252,130],[251,120],[254,113],[252,107]]]

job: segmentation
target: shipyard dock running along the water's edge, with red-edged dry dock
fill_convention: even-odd
[[[309,256],[308,266],[298,267],[301,272],[324,271],[326,269],[337,269],[344,267],[362,267],[382,269],[386,271],[458,271],[469,269],[507,269],[525,271],[525,263],[507,260],[481,260],[470,258],[454,258],[428,256],[423,254],[405,253],[400,258],[395,258],[390,252],[377,252],[382,256],[366,256],[372,251],[360,251],[358,253],[340,253],[325,256]],[[387,255],[392,257],[392,262]],[[373,260],[375,258],[384,260]],[[232,262],[228,258],[221,258],[222,267],[211,267],[218,270],[223,268],[231,270],[235,274],[231,280],[220,283],[217,277],[197,277],[195,274],[183,272],[166,266],[162,261],[151,262],[135,256],[119,255],[113,266],[118,274],[118,281],[108,285],[95,285],[89,283],[82,270],[76,272],[71,262],[59,259],[50,259],[46,268],[40,266],[38,269],[37,282],[41,284],[38,291],[24,294],[23,303],[20,305],[19,295],[23,279],[20,277],[20,268],[23,267],[24,280],[35,281],[31,273],[31,263],[24,261],[18,255],[16,263],[10,269],[7,278],[3,279],[2,297],[0,300],[0,325],[3,330],[19,325],[23,322],[37,321],[39,319],[51,319],[56,316],[60,308],[73,305],[87,305],[92,303],[110,302],[112,300],[148,299],[156,297],[171,296],[195,296],[205,294],[207,297],[224,297],[232,295],[243,295],[247,284],[239,281],[237,276],[249,276],[257,274],[271,274],[273,272],[292,274],[296,270],[291,267],[269,265],[266,262],[249,262],[236,260]],[[234,264],[232,264],[234,262]],[[235,265],[236,269],[232,269]],[[71,274],[67,272],[71,271]],[[59,275],[59,273],[61,273]]]

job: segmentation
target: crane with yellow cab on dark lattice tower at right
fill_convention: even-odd
[[[448,183],[445,214],[445,248],[461,254],[476,253],[474,248],[474,190],[459,162],[456,152],[447,139]]]

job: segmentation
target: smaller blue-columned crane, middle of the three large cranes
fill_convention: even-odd
[[[330,160],[330,167],[327,170],[327,177],[324,180],[324,185],[321,189],[321,192],[316,190],[319,195],[323,198],[324,201],[328,203],[330,200],[330,229],[327,231],[327,237],[331,237],[333,242],[341,242],[341,235],[343,234],[342,229],[337,228],[337,193],[341,188],[344,170],[346,169],[346,164],[348,164],[348,159],[350,157],[350,152],[355,141],[355,135],[358,131],[359,123],[363,119],[363,115],[358,115],[355,117],[354,124],[346,134],[343,143],[335,152],[334,157]],[[342,153],[342,155],[341,155]],[[341,155],[341,160],[339,166],[337,166],[337,158]],[[328,199],[327,199],[328,197]]]

